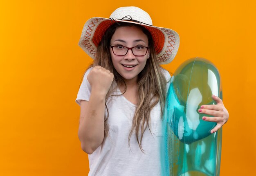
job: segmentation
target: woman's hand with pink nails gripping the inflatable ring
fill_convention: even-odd
[[[211,130],[211,133],[220,129],[229,119],[229,112],[225,108],[222,100],[219,97],[212,95],[213,100],[216,101],[216,105],[202,105],[198,112],[202,114],[212,115],[214,117],[202,117],[204,121],[216,122],[217,125]]]

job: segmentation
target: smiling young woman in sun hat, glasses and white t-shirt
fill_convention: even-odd
[[[79,45],[94,59],[76,98],[89,175],[160,175],[161,117],[171,76],[159,64],[173,60],[179,35],[152,26],[137,7],[121,7],[110,18],[88,20]],[[215,132],[229,115],[222,101],[213,99],[218,105],[200,111],[216,116]]]

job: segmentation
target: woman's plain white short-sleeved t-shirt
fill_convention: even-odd
[[[76,103],[80,100],[89,101],[91,86],[87,75],[92,68],[89,68],[84,75],[83,82],[77,94]],[[166,80],[171,78],[168,71],[163,69]],[[167,88],[168,88],[167,84]],[[121,94],[118,89],[115,93]],[[151,111],[151,132],[147,128],[142,139],[144,153],[141,152],[135,134],[130,139],[132,118],[135,114],[135,105],[128,101],[123,95],[113,96],[108,103],[110,127],[109,136],[92,154],[88,154],[90,172],[89,176],[160,176],[160,149],[159,144],[162,138],[162,121],[160,119],[161,108],[158,103]]]

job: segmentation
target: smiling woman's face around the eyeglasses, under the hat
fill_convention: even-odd
[[[111,46],[148,46],[148,37],[143,31],[136,26],[121,26],[115,30],[110,40]],[[149,49],[144,56],[135,56],[131,50],[123,56],[115,55],[110,48],[112,63],[117,72],[125,79],[125,81],[137,81],[138,74],[146,65]]]

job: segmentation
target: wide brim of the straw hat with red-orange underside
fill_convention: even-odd
[[[83,26],[83,31],[79,40],[79,46],[92,59],[96,57],[97,46],[99,45],[106,30],[115,22],[127,22],[144,26],[152,35],[157,62],[159,64],[170,63],[177,54],[180,37],[172,29],[141,24],[139,22],[127,20],[110,20],[109,18],[90,18]]]

